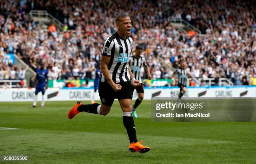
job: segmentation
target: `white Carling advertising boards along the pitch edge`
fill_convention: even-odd
[[[179,87],[145,87],[144,99],[151,97],[178,97]],[[33,101],[35,89],[0,89],[0,102]],[[46,101],[91,100],[94,89],[91,88],[49,88],[45,93]],[[38,94],[38,101],[42,94]],[[256,86],[232,87],[187,87],[184,97],[256,97]],[[136,90],[133,99],[137,98]],[[98,92],[95,100],[100,100]]]

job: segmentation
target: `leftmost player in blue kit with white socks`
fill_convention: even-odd
[[[36,92],[35,92],[35,98],[34,98],[34,103],[32,107],[36,107],[36,101],[37,101],[37,96],[38,92],[42,92],[42,103],[41,107],[44,107],[44,93],[47,89],[47,84],[48,84],[48,71],[44,69],[44,64],[40,65],[40,69],[36,69]]]

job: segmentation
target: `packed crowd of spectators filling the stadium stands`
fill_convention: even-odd
[[[116,30],[115,14],[128,12],[132,37],[144,45],[153,79],[170,78],[168,65],[177,68],[186,60],[195,80],[225,77],[249,84],[256,78],[253,8],[252,1],[222,0],[0,0],[0,77],[19,72],[3,60],[6,53],[15,53],[33,69],[44,62],[50,79],[93,78],[104,40]],[[48,32],[29,18],[30,10],[47,10],[65,27],[51,25]],[[169,24],[170,16],[187,20],[203,35],[179,32]]]

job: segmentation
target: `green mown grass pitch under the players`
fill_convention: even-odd
[[[108,116],[82,112],[69,120],[74,103],[0,103],[0,127],[17,128],[0,130],[0,156],[26,155],[33,164],[256,162],[256,122],[151,122],[151,102],[144,100],[135,124],[151,150],[140,154],[128,151],[118,101]]]

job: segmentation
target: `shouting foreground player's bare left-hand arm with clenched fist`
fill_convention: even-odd
[[[110,61],[110,57],[102,55],[101,62],[100,62],[100,69],[104,77],[108,80],[108,83],[110,84],[110,86],[114,89],[115,92],[117,92],[122,89],[122,86],[120,84],[115,84],[115,82],[113,82],[108,70],[109,61]]]

